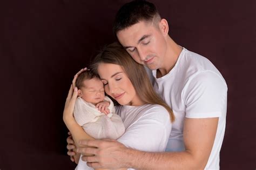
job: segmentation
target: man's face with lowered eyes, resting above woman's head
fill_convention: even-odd
[[[151,70],[163,67],[167,44],[158,25],[141,21],[118,31],[117,38],[137,63]]]

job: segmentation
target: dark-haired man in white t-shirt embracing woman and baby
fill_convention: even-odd
[[[113,31],[136,62],[152,70],[154,89],[173,109],[164,153],[127,148],[114,140],[81,141],[79,153],[93,168],[219,169],[226,125],[227,86],[214,65],[177,45],[169,25],[149,2],[133,1],[120,8]],[[68,149],[74,148],[68,138]],[[75,154],[69,151],[69,155]]]

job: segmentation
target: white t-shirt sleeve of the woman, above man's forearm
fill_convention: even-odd
[[[169,112],[164,107],[147,112],[127,127],[118,141],[139,151],[163,152],[171,132]]]

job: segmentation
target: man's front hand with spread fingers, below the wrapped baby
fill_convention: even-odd
[[[84,155],[84,153],[90,153],[94,156],[83,156],[82,160],[87,161],[87,165],[92,168],[128,168],[126,160],[129,158],[129,148],[116,140],[81,140],[81,145],[88,145],[91,147],[79,147],[78,153]]]

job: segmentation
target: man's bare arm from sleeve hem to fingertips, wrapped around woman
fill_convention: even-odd
[[[93,168],[135,168],[135,169],[204,169],[210,156],[218,118],[185,118],[183,152],[142,152],[130,149],[117,141],[83,141],[85,145],[98,148],[79,148],[80,151],[95,154],[83,157]],[[84,150],[83,150],[84,149]],[[111,162],[111,163],[110,163]]]

